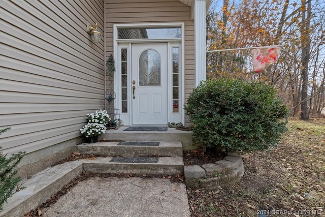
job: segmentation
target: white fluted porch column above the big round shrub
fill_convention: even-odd
[[[207,79],[206,75],[206,1],[194,2],[195,86]]]

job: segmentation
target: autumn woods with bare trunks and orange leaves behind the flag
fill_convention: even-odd
[[[221,1],[221,0],[219,0]],[[249,50],[207,53],[208,77],[237,77],[273,85],[293,115],[324,108],[325,1],[222,0],[207,23],[210,50],[283,44],[276,64],[252,72]]]

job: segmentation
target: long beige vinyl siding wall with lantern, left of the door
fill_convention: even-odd
[[[81,136],[104,108],[104,0],[0,1],[0,135],[4,153],[32,152]]]

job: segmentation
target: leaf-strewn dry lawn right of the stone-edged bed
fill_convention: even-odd
[[[232,188],[188,190],[192,216],[325,215],[325,119],[290,119],[276,148],[243,160],[245,174]]]

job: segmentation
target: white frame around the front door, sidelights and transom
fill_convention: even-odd
[[[128,27],[181,27],[182,38],[179,39],[118,39],[118,28],[128,28]],[[172,111],[172,91],[168,91],[168,122],[182,122],[185,123],[185,111],[184,111],[184,102],[185,102],[185,48],[184,48],[184,23],[137,23],[137,24],[114,24],[113,25],[113,56],[116,64],[116,72],[114,74],[114,91],[116,93],[116,99],[114,101],[114,107],[118,109],[120,113],[120,118],[123,121],[125,126],[132,125],[132,80],[131,74],[127,76],[128,83],[128,111],[127,113],[122,113],[122,103],[121,103],[121,67],[118,65],[121,63],[121,49],[127,49],[127,59],[131,60],[132,53],[132,43],[168,43],[168,66],[169,66],[169,75],[168,75],[168,90],[172,89],[172,64],[171,58],[172,47],[179,48],[180,54],[180,64],[179,64],[179,113],[174,114]],[[131,64],[127,65],[128,73],[131,72]]]

